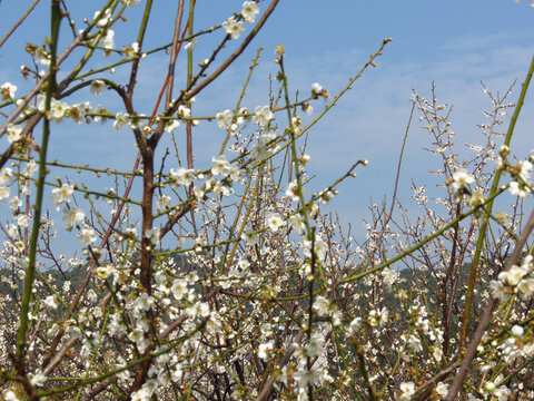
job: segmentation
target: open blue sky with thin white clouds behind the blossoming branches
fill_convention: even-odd
[[[29,0],[0,3],[1,36],[30,3]],[[92,18],[97,6],[103,1],[67,3],[72,4],[72,17],[81,21],[83,16]],[[260,8],[265,10],[267,3],[261,2]],[[17,71],[21,63],[29,62],[22,48],[28,41],[40,43],[48,35],[48,4],[49,1],[41,1],[29,21],[0,49],[0,82],[11,81],[21,88],[20,92],[24,84]],[[170,37],[176,12],[176,1],[158,0],[155,4],[148,45],[160,45],[161,38]],[[198,0],[196,28],[220,23],[233,11],[239,11],[240,4],[241,1],[234,0]],[[139,18],[140,6],[129,11],[131,21]],[[434,81],[438,99],[454,105],[452,121],[457,145],[482,143],[476,125],[484,121],[482,113],[491,109],[491,102],[483,94],[481,80],[490,90],[505,92],[515,79],[518,82],[524,79],[534,53],[534,9],[530,1],[281,0],[264,31],[236,66],[214,85],[211,91],[198,97],[196,110],[215,114],[233,107],[249,60],[259,46],[265,50],[247,94],[249,108],[267,104],[268,75],[276,74],[273,63],[276,45],[284,43],[286,48],[291,90],[307,94],[310,85],[318,81],[335,94],[359,70],[383,38],[388,37],[394,40],[378,60],[377,68],[365,72],[339,106],[314,127],[309,137],[310,173],[316,175],[314,189],[322,189],[354,160],[369,159],[369,166],[358,170],[356,179],[340,187],[340,196],[334,203],[345,223],[358,225],[366,215],[369,197],[380,200],[384,195],[392,194],[413,88],[428,96]],[[135,31],[128,25],[118,26],[116,41],[120,46],[135,41]],[[198,60],[209,56],[208,42],[201,40],[197,46]],[[161,55],[141,65],[138,104],[154,104],[164,79],[165,61],[166,56]],[[115,78],[120,80],[126,76],[126,70],[118,70]],[[518,91],[520,84],[515,86],[512,100]],[[512,143],[518,157],[524,157],[534,147],[533,91],[527,97],[517,136]],[[90,100],[95,105],[98,102],[98,99]],[[319,108],[317,104],[316,109]],[[92,140],[88,143],[89,135]],[[215,125],[198,130],[195,139],[196,149],[199,149],[197,163],[210,159],[218,148],[218,135],[220,131]],[[102,141],[107,144],[103,149]],[[419,185],[427,183],[426,170],[433,166],[422,148],[428,144],[415,120],[400,177],[400,195],[405,200],[409,200],[412,179]],[[117,134],[110,125],[98,131],[95,125],[61,128],[51,146],[52,157],[90,163],[98,155],[97,165],[118,165],[125,169],[130,168],[135,151],[131,135]],[[7,205],[1,207],[7,208]]]

